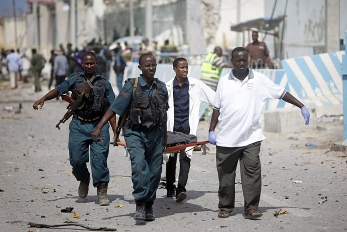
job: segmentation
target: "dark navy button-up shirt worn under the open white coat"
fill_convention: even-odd
[[[176,78],[172,85],[174,91],[174,131],[185,131],[189,128],[189,81],[185,78],[179,86]]]

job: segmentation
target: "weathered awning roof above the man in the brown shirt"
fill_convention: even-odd
[[[251,19],[239,24],[234,24],[230,27],[232,31],[243,32],[245,30],[253,30],[254,28],[258,30],[274,30],[279,27],[279,24],[283,21],[285,16],[279,16],[277,18],[264,17]]]

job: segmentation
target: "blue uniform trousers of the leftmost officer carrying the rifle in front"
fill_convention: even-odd
[[[92,169],[93,186],[99,183],[109,183],[110,172],[107,167],[107,157],[109,153],[110,133],[109,123],[101,129],[103,141],[94,142],[91,134],[100,120],[84,122],[77,119],[77,115],[71,120],[69,125],[69,155],[72,173],[78,181],[87,180],[90,173],[87,168],[89,162]]]

